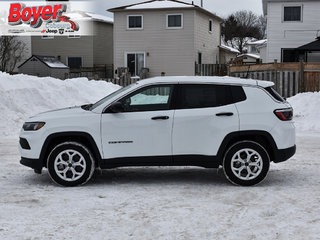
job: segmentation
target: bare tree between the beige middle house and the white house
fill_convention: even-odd
[[[262,39],[260,18],[252,11],[238,11],[231,14],[222,25],[222,37],[225,43],[244,52],[245,44],[251,39]]]

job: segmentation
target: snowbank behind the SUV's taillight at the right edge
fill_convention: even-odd
[[[320,133],[320,92],[301,93],[288,99],[298,132]]]

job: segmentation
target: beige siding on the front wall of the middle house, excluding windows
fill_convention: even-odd
[[[183,13],[183,29],[166,29],[166,16]],[[143,30],[127,30],[127,15],[143,15]],[[115,69],[126,52],[145,52],[149,76],[194,75],[194,10],[130,11],[114,14]]]

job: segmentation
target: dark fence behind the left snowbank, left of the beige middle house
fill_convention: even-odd
[[[89,79],[113,78],[113,65],[95,65],[94,67],[81,67],[70,69],[69,78],[87,77]]]

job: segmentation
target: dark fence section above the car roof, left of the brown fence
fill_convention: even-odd
[[[227,74],[226,64],[195,64],[196,76],[226,76]]]

